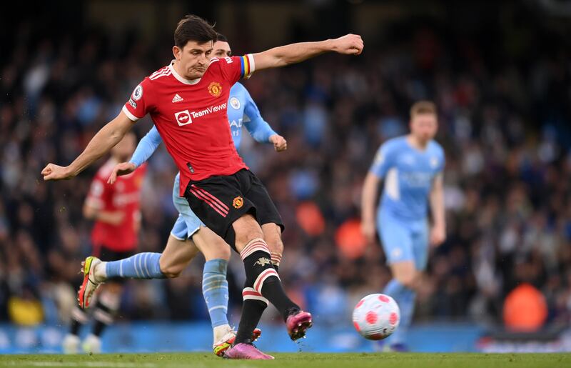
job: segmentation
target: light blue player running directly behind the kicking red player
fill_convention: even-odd
[[[231,56],[231,49],[226,37],[218,35],[218,41],[213,45],[213,56]],[[178,95],[177,95],[178,96]],[[175,103],[176,96],[173,98]],[[232,86],[228,99],[228,123],[236,149],[240,146],[242,125],[258,142],[268,142],[274,145],[276,151],[284,151],[287,142],[278,135],[269,124],[263,120],[258,106],[251,98],[246,88],[236,83]],[[113,184],[118,175],[128,174],[141,166],[161,144],[161,136],[155,126],[148,131],[139,142],[131,161],[117,164],[109,177]],[[228,309],[228,282],[226,267],[230,259],[230,247],[211,229],[205,227],[192,212],[185,198],[179,196],[179,175],[176,175],[173,186],[173,204],[178,211],[178,219],[173,226],[171,235],[163,253],[139,253],[133,257],[117,262],[101,262],[94,267],[94,282],[101,283],[109,277],[125,277],[133,279],[162,279],[177,277],[188,263],[202,252],[206,263],[203,270],[202,290],[208,307],[213,327],[213,351],[222,356],[234,341],[236,332],[228,324],[226,315]],[[277,224],[263,224],[264,238],[271,250],[271,262],[279,266],[283,243],[281,229]],[[96,261],[97,262],[97,261]],[[244,296],[244,302],[259,303],[261,296]],[[88,298],[89,299],[89,298]],[[266,301],[267,305],[267,301]],[[255,330],[253,339],[260,331]]]

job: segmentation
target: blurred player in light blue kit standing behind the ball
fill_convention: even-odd
[[[415,292],[428,260],[428,244],[446,238],[443,195],[444,151],[433,140],[438,129],[436,106],[419,101],[410,109],[410,134],[385,141],[363,184],[362,230],[375,239],[375,199],[381,179],[385,186],[376,212],[376,229],[393,279],[383,294],[400,307],[400,325],[389,337],[388,349],[406,351],[405,334],[413,318]],[[428,232],[428,203],[433,226]]]

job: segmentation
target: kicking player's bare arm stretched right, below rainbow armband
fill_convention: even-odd
[[[299,63],[325,52],[338,52],[345,55],[359,55],[363,51],[363,39],[357,34],[347,34],[338,39],[318,42],[300,42],[274,47],[267,51],[253,54],[255,70],[278,68]]]

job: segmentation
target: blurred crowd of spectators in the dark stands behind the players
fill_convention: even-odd
[[[81,207],[103,160],[69,181],[46,184],[40,171],[81,153],[138,82],[168,63],[171,44],[101,31],[55,37],[30,24],[12,37],[0,56],[0,322],[62,324],[91,252]],[[570,321],[570,49],[541,44],[540,33],[513,47],[502,37],[494,46],[413,27],[359,57],[320,56],[243,82],[288,140],[276,153],[244,139],[241,154],[285,221],[281,279],[316,318],[348,320],[360,297],[390,279],[380,245],[360,236],[360,188],[378,146],[408,131],[410,104],[431,99],[447,155],[448,239],[431,251],[415,318],[497,322],[506,294],[528,282],[545,296],[550,322]],[[151,124],[136,123],[139,138]],[[141,252],[166,243],[175,174],[157,151]],[[178,279],[129,282],[121,318],[206,319],[201,262]],[[241,268],[234,255],[234,321]]]

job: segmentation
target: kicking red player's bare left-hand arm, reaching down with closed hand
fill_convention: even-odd
[[[44,180],[71,179],[77,176],[118,144],[133,124],[134,121],[121,111],[115,119],[109,121],[95,134],[84,151],[71,164],[68,166],[47,164],[41,171]]]

